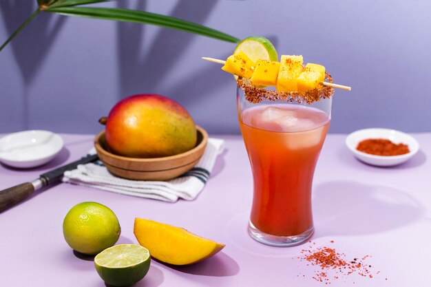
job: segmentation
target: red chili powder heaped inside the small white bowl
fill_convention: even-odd
[[[375,156],[399,156],[410,152],[408,145],[403,143],[399,143],[397,145],[384,138],[368,138],[366,140],[362,140],[359,142],[356,149]]]

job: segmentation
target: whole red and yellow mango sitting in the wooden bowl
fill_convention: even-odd
[[[176,101],[156,94],[120,100],[109,112],[106,142],[119,156],[160,158],[196,146],[196,126]]]

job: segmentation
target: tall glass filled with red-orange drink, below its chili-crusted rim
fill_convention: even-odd
[[[248,231],[271,246],[295,246],[313,235],[311,187],[330,125],[332,97],[292,102],[251,103],[237,88],[238,120],[253,173]]]

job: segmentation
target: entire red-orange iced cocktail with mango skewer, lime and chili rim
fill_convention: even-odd
[[[311,188],[328,132],[334,84],[324,65],[282,55],[268,39],[241,41],[222,70],[237,81],[238,120],[253,173],[249,234],[272,246],[313,235]]]

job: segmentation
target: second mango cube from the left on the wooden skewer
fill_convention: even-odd
[[[256,86],[275,86],[279,70],[280,63],[278,62],[258,60],[250,79],[251,83]]]

